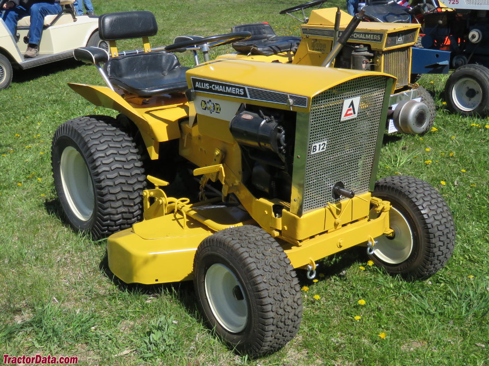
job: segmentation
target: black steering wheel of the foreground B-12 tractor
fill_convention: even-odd
[[[209,51],[212,47],[222,46],[237,40],[246,40],[251,37],[250,32],[236,32],[226,33],[222,35],[210,36],[210,37],[188,37],[187,41],[173,43],[165,47],[165,51],[168,52],[184,52],[187,50],[194,51],[194,55],[197,55],[197,51],[200,50],[204,54],[204,61],[209,61]],[[177,37],[178,39],[180,37]],[[198,65],[198,58],[195,57],[196,65]]]

